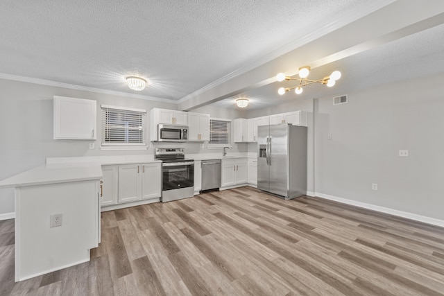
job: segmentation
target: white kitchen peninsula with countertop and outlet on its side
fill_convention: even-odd
[[[15,187],[15,281],[89,261],[100,242],[100,164],[37,166]]]

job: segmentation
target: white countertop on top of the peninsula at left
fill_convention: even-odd
[[[42,164],[0,182],[0,188],[98,180],[102,169],[98,163],[82,166],[46,166]]]

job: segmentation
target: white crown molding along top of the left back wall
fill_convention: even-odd
[[[20,82],[28,82],[33,83],[36,85],[46,85],[50,87],[63,87],[66,89],[76,89],[81,90],[85,92],[96,92],[99,94],[110,94],[113,96],[125,96],[129,98],[140,98],[142,100],[148,100],[148,101],[156,101],[156,102],[162,102],[162,103],[173,103],[178,104],[178,101],[171,100],[169,98],[157,98],[155,96],[144,96],[141,94],[130,94],[126,92],[116,92],[109,89],[99,89],[95,87],[84,87],[81,85],[70,85],[68,83],[62,83],[62,82],[56,82],[51,80],[43,80],[43,79],[37,79],[37,78],[31,78],[31,77],[24,77],[24,76],[16,76],[6,73],[0,73],[0,79],[5,80],[14,80],[14,81],[20,81]]]

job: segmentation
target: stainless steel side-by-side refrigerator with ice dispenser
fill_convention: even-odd
[[[257,188],[289,200],[307,194],[307,127],[257,128]]]

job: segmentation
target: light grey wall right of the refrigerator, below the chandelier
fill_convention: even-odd
[[[444,220],[443,80],[441,74],[349,92],[343,105],[319,98],[316,192]],[[399,157],[400,149],[409,157]]]

